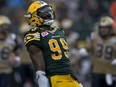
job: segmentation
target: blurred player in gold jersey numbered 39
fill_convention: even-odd
[[[114,21],[103,16],[98,30],[91,34],[86,48],[92,54],[92,87],[114,87],[112,76],[116,75],[116,36]]]

